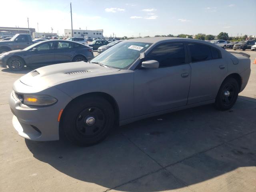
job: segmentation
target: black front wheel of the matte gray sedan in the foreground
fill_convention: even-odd
[[[99,96],[80,97],[63,112],[61,127],[74,144],[91,146],[104,140],[114,126],[114,109]]]

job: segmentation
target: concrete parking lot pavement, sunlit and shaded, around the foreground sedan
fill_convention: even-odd
[[[0,191],[255,192],[256,52],[246,52],[252,72],[231,110],[206,105],[148,118],[87,148],[18,136],[8,97],[29,69],[0,68]]]

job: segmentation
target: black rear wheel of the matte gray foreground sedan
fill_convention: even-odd
[[[239,85],[236,79],[226,78],[216,96],[215,106],[218,110],[229,110],[236,103],[239,93]]]

